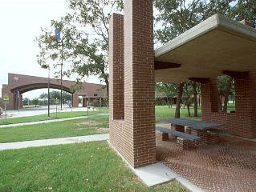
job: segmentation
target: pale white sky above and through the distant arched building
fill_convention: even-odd
[[[37,62],[39,48],[34,40],[40,27],[50,26],[51,19],[59,19],[66,12],[66,0],[0,0],[0,95],[2,84],[8,83],[8,73],[47,78],[47,70]],[[89,77],[86,82],[100,80]],[[43,92],[47,90],[33,90],[23,98],[36,98]]]

